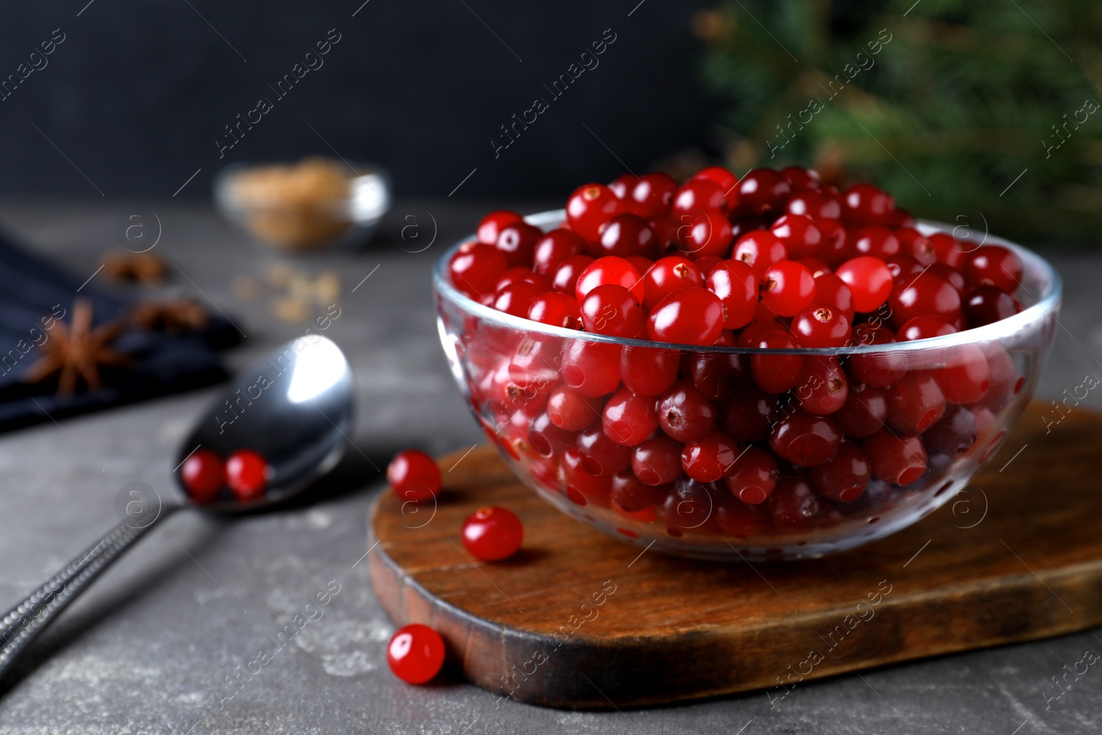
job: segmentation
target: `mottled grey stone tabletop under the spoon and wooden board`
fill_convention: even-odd
[[[115,219],[128,206],[134,208],[4,202],[0,223],[75,274],[90,275],[99,255],[115,246]],[[209,208],[142,206],[163,223],[158,251],[174,263],[170,290],[213,302],[248,335],[227,356],[231,366],[302,334],[305,325],[280,322],[231,290],[234,277],[262,275],[278,255],[250,244]],[[366,516],[381,485],[377,467],[395,448],[442,453],[480,441],[436,344],[429,274],[434,258],[485,209],[402,203],[371,249],[291,261],[341,274],[342,312],[326,334],[355,369],[357,450],[314,505],[233,522],[182,514],[156,529],[43,636],[28,669],[0,691],[0,733],[1031,735],[1102,728],[1102,669],[1091,667],[1048,707],[1042,693],[1054,691],[1051,677],[1085,649],[1102,651],[1098,631],[806,683],[776,709],[754,692],[648,711],[565,712],[497,702],[460,681],[415,688],[392,677],[385,659],[392,627],[363,562]],[[1067,300],[1041,380],[1046,397],[1080,385],[1088,372],[1102,375],[1094,361],[1102,357],[1102,256],[1051,255],[1067,280]],[[169,490],[175,447],[212,392],[0,436],[0,606],[7,609],[116,522],[123,485],[140,480]],[[1088,402],[1102,406],[1102,394]],[[278,648],[273,638],[282,627],[326,588],[339,591],[322,617]],[[274,650],[272,660],[239,674],[262,648]],[[230,689],[235,677],[237,689]]]

